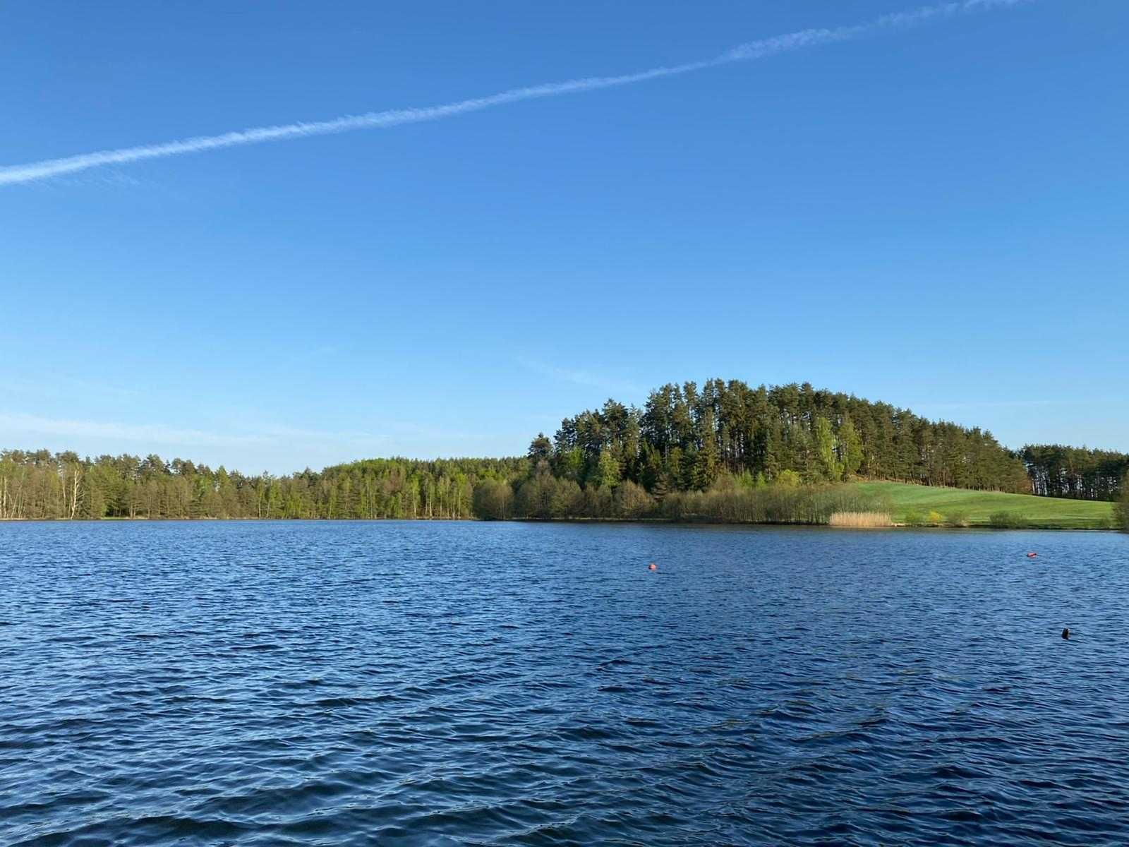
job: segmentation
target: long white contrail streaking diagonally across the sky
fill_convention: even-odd
[[[513,88],[500,94],[492,94],[488,97],[475,97],[472,99],[448,103],[443,106],[429,106],[426,108],[403,108],[387,112],[369,112],[362,115],[347,115],[332,121],[317,121],[314,123],[288,123],[281,126],[259,126],[238,132],[225,132],[221,136],[199,136],[186,138],[180,141],[167,141],[161,145],[145,145],[141,147],[125,147],[119,150],[100,150],[98,152],[85,152],[78,156],[68,156],[61,159],[44,159],[33,161],[27,165],[9,165],[0,167],[0,185],[10,185],[23,182],[34,182],[45,180],[60,174],[70,174],[76,171],[86,171],[104,165],[124,165],[130,161],[141,159],[158,159],[166,156],[180,156],[185,152],[201,152],[203,150],[217,150],[222,147],[239,147],[243,145],[257,145],[263,141],[279,141],[288,138],[305,138],[307,136],[330,136],[338,132],[349,132],[361,129],[384,129],[387,126],[399,126],[404,123],[422,123],[423,121],[438,121],[443,117],[465,114],[466,112],[480,112],[484,108],[492,108],[507,103],[518,103],[520,101],[537,99],[540,97],[555,97],[562,94],[576,94],[580,91],[594,91],[599,88],[614,88],[618,86],[634,85],[648,79],[659,77],[675,77],[682,73],[715,68],[721,64],[734,62],[747,62],[756,59],[786,53],[804,47],[813,47],[821,44],[832,44],[835,42],[854,41],[882,30],[904,29],[918,26],[930,20],[944,17],[953,17],[974,11],[982,11],[991,8],[1006,8],[1030,2],[1031,0],[951,0],[951,2],[937,6],[927,6],[912,11],[896,12],[875,18],[864,24],[854,26],[841,26],[833,29],[803,29],[788,35],[779,35],[773,38],[750,42],[734,47],[712,59],[703,59],[684,64],[651,68],[650,70],[624,73],[618,77],[587,77],[584,79],[571,79],[566,82],[549,82],[546,85],[531,86],[527,88]]]

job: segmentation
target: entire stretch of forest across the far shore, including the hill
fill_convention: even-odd
[[[659,517],[825,523],[856,479],[1117,499],[1129,456],[1013,452],[987,431],[808,384],[668,384],[539,435],[526,456],[379,459],[286,477],[159,456],[0,452],[0,518]],[[1129,508],[1129,507],[1127,507]]]

